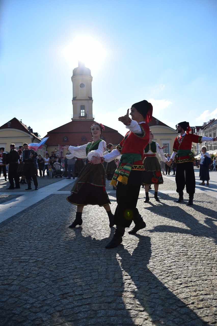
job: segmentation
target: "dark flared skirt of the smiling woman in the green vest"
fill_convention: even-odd
[[[105,169],[100,164],[86,164],[80,171],[71,195],[66,198],[74,205],[99,205],[111,204],[105,190]]]

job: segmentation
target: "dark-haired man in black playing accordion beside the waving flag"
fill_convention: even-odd
[[[27,143],[23,144],[23,162],[24,162],[24,167],[23,167],[23,175],[25,175],[26,177],[26,182],[28,185],[28,188],[26,190],[32,190],[31,188],[31,177],[33,179],[34,182],[34,186],[35,186],[35,190],[38,190],[38,181],[36,178],[36,174],[35,174],[35,164],[34,164],[34,158],[36,158],[38,156],[38,154],[34,151],[31,150],[32,153],[28,156],[25,155],[25,151],[29,150],[29,145]]]

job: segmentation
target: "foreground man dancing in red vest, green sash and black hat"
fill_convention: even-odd
[[[135,226],[129,231],[129,234],[134,234],[146,226],[136,205],[144,170],[143,150],[149,142],[150,130],[147,122],[152,119],[152,110],[151,103],[146,100],[133,104],[130,108],[132,119],[129,118],[129,109],[126,115],[118,118],[129,129],[124,139],[111,153],[101,157],[101,161],[99,157],[93,156],[90,162],[92,164],[103,161],[111,162],[115,157],[122,154],[111,181],[111,185],[117,185],[117,207],[114,215],[116,229],[113,239],[106,245],[107,249],[122,243],[125,228],[129,228],[132,221],[134,221]]]

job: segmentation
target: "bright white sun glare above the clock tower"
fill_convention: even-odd
[[[64,49],[63,55],[70,65],[77,66],[78,60],[83,61],[91,70],[99,68],[105,57],[106,51],[93,37],[76,36]]]

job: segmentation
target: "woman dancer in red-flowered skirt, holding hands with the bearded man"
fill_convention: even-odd
[[[144,202],[147,203],[149,201],[148,190],[149,186],[154,184],[155,188],[155,200],[160,201],[157,197],[158,186],[163,184],[163,177],[161,174],[160,163],[156,158],[156,153],[160,156],[161,161],[167,162],[167,158],[164,156],[164,153],[160,147],[160,145],[152,141],[154,135],[150,130],[150,138],[149,143],[144,149],[144,172],[142,175],[142,185],[145,186],[145,200]]]

